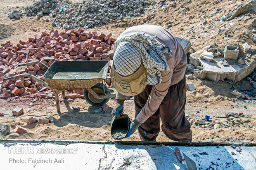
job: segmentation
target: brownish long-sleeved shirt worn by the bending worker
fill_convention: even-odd
[[[118,38],[129,35],[131,33],[141,33],[144,32],[150,36],[157,36],[156,40],[160,43],[166,45],[171,49],[171,57],[166,56],[167,64],[173,72],[170,71],[161,71],[162,82],[153,86],[152,91],[149,95],[147,103],[141,109],[141,112],[137,115],[136,119],[140,123],[145,122],[150,116],[152,116],[156,110],[159,108],[162,100],[168,92],[168,88],[180,82],[183,79],[186,65],[187,65],[187,56],[186,53],[181,47],[178,40],[165,28],[161,26],[154,25],[139,25],[133,26],[125,30]],[[117,93],[117,99],[125,99],[125,95]]]

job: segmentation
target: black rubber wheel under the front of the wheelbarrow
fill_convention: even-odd
[[[109,88],[104,84],[105,93],[110,93]],[[102,83],[98,83],[91,87],[91,89],[97,93],[97,95],[104,95]],[[90,105],[92,106],[103,106],[109,101],[109,98],[106,99],[97,99],[91,93],[89,93],[86,89],[83,91],[83,96]]]

